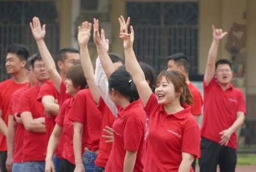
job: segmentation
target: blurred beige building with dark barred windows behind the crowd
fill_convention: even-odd
[[[167,67],[167,56],[184,52],[191,59],[191,79],[202,82],[212,42],[212,24],[229,32],[218,58],[232,60],[233,83],[246,95],[246,125],[240,132],[240,151],[256,151],[256,1],[255,0],[20,0],[0,1],[0,81],[7,79],[5,49],[13,42],[37,52],[29,28],[34,16],[47,25],[46,42],[56,56],[61,48],[78,48],[77,27],[97,18],[110,39],[110,52],[124,55],[117,18],[131,17],[138,59],[157,71]],[[96,48],[91,39],[91,56]],[[255,72],[255,73],[254,73]],[[246,148],[250,149],[246,149]]]

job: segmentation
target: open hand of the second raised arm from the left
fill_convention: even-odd
[[[78,43],[79,45],[87,45],[91,37],[92,23],[83,22],[81,26],[78,26]]]

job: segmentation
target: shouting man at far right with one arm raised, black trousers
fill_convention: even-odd
[[[236,166],[236,130],[244,123],[246,104],[243,92],[231,84],[231,62],[216,61],[220,41],[227,34],[213,26],[203,81],[200,171],[216,171],[217,164],[220,171],[235,171]]]

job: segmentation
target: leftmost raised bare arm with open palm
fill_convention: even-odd
[[[59,92],[62,83],[62,77],[59,75],[55,62],[52,58],[51,53],[47,49],[46,43],[44,42],[44,36],[46,36],[46,25],[41,27],[40,20],[37,17],[33,18],[33,23],[29,23],[32,34],[36,40],[39,53],[42,57],[46,70],[49,72],[51,81],[53,82],[56,90]]]

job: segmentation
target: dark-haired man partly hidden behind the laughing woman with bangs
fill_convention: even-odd
[[[191,114],[197,119],[199,123],[199,116],[202,114],[203,99],[197,87],[189,81],[190,61],[184,53],[176,53],[168,57],[168,69],[171,71],[178,71],[186,77],[188,89],[193,97],[193,104],[191,105]],[[195,161],[192,164],[195,170]]]

